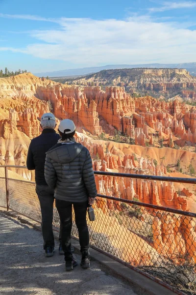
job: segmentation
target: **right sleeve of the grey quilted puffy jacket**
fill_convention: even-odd
[[[86,160],[82,169],[82,177],[88,192],[88,197],[95,198],[97,196],[97,188],[93,172],[92,159],[88,149],[86,152]]]

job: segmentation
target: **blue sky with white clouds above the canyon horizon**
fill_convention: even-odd
[[[0,0],[0,68],[196,61],[196,0]]]

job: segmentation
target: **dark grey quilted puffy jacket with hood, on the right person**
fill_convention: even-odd
[[[97,196],[90,152],[78,143],[57,144],[47,152],[45,179],[56,199],[79,203]]]

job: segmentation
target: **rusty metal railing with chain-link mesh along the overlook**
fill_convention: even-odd
[[[0,168],[5,170],[0,177],[0,206],[41,222],[35,182],[9,177],[8,168],[26,167]],[[196,184],[195,178],[95,174]],[[100,194],[94,209],[96,221],[88,221],[92,247],[177,294],[196,294],[196,213]],[[55,207],[53,226],[59,228]],[[72,235],[78,237],[74,222]]]

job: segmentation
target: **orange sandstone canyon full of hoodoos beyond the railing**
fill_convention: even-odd
[[[148,69],[143,74],[149,74]],[[167,74],[172,75],[169,70]],[[173,74],[182,77],[188,75],[183,70]],[[163,70],[154,72],[154,75],[161,78]],[[106,87],[105,91],[99,86],[65,86],[30,73],[0,79],[1,165],[25,166],[30,139],[40,134],[40,118],[49,111],[54,113],[57,122],[63,118],[74,120],[76,140],[90,150],[94,170],[190,177],[183,173],[189,172],[190,164],[196,169],[196,153],[193,149],[174,149],[176,143],[178,147],[195,146],[195,107],[178,100],[165,102],[150,96],[133,99],[124,87],[118,86]],[[34,180],[34,175],[27,170],[12,169],[9,175]],[[196,211],[193,185],[107,176],[96,176],[96,183],[100,194]],[[118,201],[98,198],[97,206],[99,217],[108,214],[108,222],[113,222],[116,212],[123,212],[122,204]],[[132,209],[130,206],[129,210]],[[112,212],[115,213],[113,218]],[[135,247],[134,253],[138,255],[133,255],[130,245],[125,243],[123,259],[134,260],[137,265],[144,260],[144,255],[145,261],[150,261],[152,253],[165,255],[171,252],[176,257],[189,253],[196,262],[196,224],[193,220],[164,213],[155,216],[152,210],[143,208],[137,216],[141,221],[137,221],[138,226],[144,227],[144,216],[150,220],[153,238],[145,240],[145,252],[139,251],[136,246],[144,243],[144,240],[133,228],[130,239],[136,241],[136,246],[132,243],[132,249]],[[118,218],[115,228],[122,233],[127,231]],[[108,224],[104,231],[109,233]],[[111,243],[117,245],[115,239]]]

